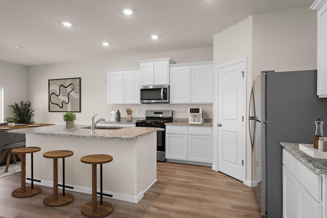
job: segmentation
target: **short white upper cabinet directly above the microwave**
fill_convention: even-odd
[[[169,64],[176,63],[171,58],[141,60],[141,85],[169,84]]]

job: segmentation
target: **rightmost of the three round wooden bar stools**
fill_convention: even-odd
[[[110,155],[104,154],[81,157],[81,162],[92,164],[92,201],[82,206],[81,213],[84,216],[104,217],[113,210],[112,204],[102,201],[102,196],[104,195],[102,192],[102,164],[111,162],[112,159]],[[97,201],[97,164],[100,164],[100,201]]]

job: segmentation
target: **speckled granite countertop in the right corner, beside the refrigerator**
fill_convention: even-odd
[[[281,142],[281,146],[317,174],[327,174],[327,159],[313,158],[298,149],[299,143]]]

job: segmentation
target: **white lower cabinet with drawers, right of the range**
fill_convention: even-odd
[[[166,126],[166,159],[212,163],[212,127]]]

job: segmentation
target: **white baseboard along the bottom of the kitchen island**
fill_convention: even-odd
[[[132,202],[132,203],[137,203],[139,201],[141,201],[141,199],[144,197],[144,193],[157,181],[157,179],[155,181],[153,181],[145,190],[141,191],[138,193],[138,195],[136,196],[131,196],[131,195],[125,195],[123,193],[117,193],[117,192],[112,192],[112,191],[107,191],[107,190],[103,190],[103,193],[108,193],[110,195],[112,195],[112,199],[116,199],[116,200],[121,200],[121,201],[127,201],[127,202]],[[30,180],[26,180],[26,183],[31,183]],[[42,185],[42,186],[46,186],[46,187],[53,187],[53,182],[52,181],[44,181],[42,180],[41,182],[34,182],[34,185]],[[73,186],[71,184],[65,184],[67,186]],[[66,188],[65,190],[68,191],[76,191],[76,192],[81,192],[81,193],[86,193],[91,195],[92,194],[92,188],[86,188],[86,187],[81,187],[81,186],[73,186],[74,189],[70,189],[70,188]],[[59,189],[62,189],[62,187],[58,187]],[[100,189],[98,189],[97,191],[100,192]],[[110,197],[106,197],[103,196],[105,198],[110,198]],[[90,197],[91,198],[91,197]]]

